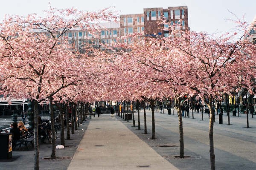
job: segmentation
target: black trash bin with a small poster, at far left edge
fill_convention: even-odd
[[[0,159],[12,158],[12,133],[0,133]]]

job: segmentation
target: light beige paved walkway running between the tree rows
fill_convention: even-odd
[[[118,127],[118,128],[116,128]],[[91,119],[68,170],[178,170],[116,117]]]

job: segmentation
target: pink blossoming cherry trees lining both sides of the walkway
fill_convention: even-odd
[[[233,39],[237,33],[216,38],[207,33],[176,31],[170,25],[169,37],[137,41],[142,34],[128,35],[134,39],[132,44],[114,45],[125,51],[106,53],[85,45],[87,54],[79,54],[71,50],[74,48],[64,34],[76,27],[96,33],[99,30],[91,23],[116,20],[115,13],[73,8],[50,8],[46,12],[43,18],[35,14],[15,16],[0,24],[1,93],[35,102],[35,170],[39,170],[38,103],[145,100],[154,106],[156,100],[174,99],[180,157],[184,157],[181,105],[185,95],[201,98],[210,108],[210,160],[211,170],[215,170],[212,101],[240,88],[253,92],[250,80],[256,71],[255,45],[243,38],[248,34],[246,23],[238,21],[244,29],[238,40]],[[154,109],[151,111],[155,139]]]

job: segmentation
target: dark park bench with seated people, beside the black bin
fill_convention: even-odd
[[[24,145],[27,148],[27,150],[29,150],[29,143],[31,143],[32,147],[34,147],[34,131],[31,127],[28,127],[27,129],[27,133],[25,133],[23,136],[20,136],[20,139],[15,141],[13,150],[15,150],[15,147],[17,147],[17,145],[19,145],[20,147],[21,145]]]

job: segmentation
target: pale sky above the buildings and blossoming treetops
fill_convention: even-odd
[[[0,0],[0,22],[5,14],[42,14],[49,9],[49,2],[56,8],[77,8],[84,11],[98,11],[109,6],[119,14],[142,14],[143,8],[188,6],[190,30],[209,34],[229,31],[234,24],[225,19],[240,19],[251,23],[256,17],[256,0]]]

